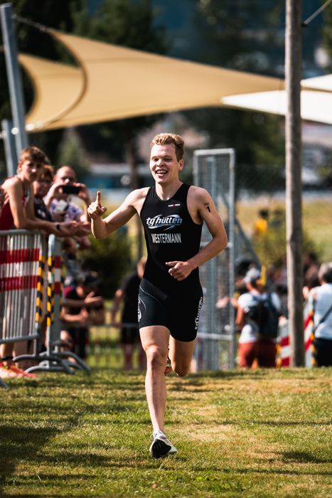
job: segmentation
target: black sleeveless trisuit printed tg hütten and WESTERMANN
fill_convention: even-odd
[[[187,261],[200,249],[202,225],[188,212],[190,186],[182,184],[162,201],[151,187],[141,208],[148,258],[139,287],[139,328],[164,325],[180,341],[193,341],[198,329],[203,292],[198,268],[178,282],[166,261]]]

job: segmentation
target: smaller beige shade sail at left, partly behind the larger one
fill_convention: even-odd
[[[69,112],[85,90],[82,68],[20,54],[34,87],[34,101],[26,117],[27,130],[38,131]]]

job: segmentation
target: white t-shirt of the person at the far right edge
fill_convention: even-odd
[[[320,287],[311,289],[309,294],[309,306],[314,309],[314,324],[323,318],[324,314],[332,304],[332,284],[323,284]],[[332,310],[326,319],[318,325],[315,331],[315,337],[320,339],[332,339]]]

